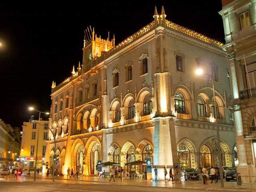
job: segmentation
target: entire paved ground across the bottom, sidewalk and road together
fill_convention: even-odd
[[[115,192],[115,191],[136,191],[136,192],[165,192],[171,190],[174,192],[181,191],[191,191],[191,192],[226,192],[226,191],[239,191],[239,192],[256,192],[254,185],[242,184],[242,186],[236,185],[236,182],[226,182],[224,181],[224,188],[220,187],[220,182],[218,183],[208,183],[203,185],[202,182],[197,180],[182,180],[181,184],[172,184],[171,181],[152,181],[152,180],[131,180],[124,179],[124,182],[120,182],[120,178],[116,179],[116,182],[109,182],[109,178],[98,178],[98,176],[79,176],[77,180],[64,178],[55,178],[52,182],[52,176],[46,178],[45,175],[39,175],[34,181],[33,176],[19,176],[18,178],[13,178],[10,174],[6,180],[6,176],[0,177],[0,189],[1,192],[13,192],[13,190],[19,190],[20,192],[52,192],[52,191],[91,191],[91,192]]]

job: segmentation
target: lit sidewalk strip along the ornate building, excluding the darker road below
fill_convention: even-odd
[[[6,180],[6,176],[2,178],[0,176],[0,182],[7,181],[7,182],[34,182],[34,175],[31,176],[18,176],[18,178],[14,178],[14,174],[8,175],[8,179]],[[46,174],[39,174],[36,176],[36,182],[52,182],[52,175],[46,177]],[[95,184],[113,184],[113,181],[109,182],[109,178],[99,178],[97,175],[90,175],[90,176],[82,176],[79,175],[77,180],[67,179],[67,176],[64,178],[54,177],[54,182],[62,182],[62,183],[88,183],[94,182]],[[190,188],[190,189],[204,189],[204,190],[218,190],[218,191],[252,191],[256,192],[256,185],[251,184],[242,184],[241,186],[236,185],[236,182],[226,182],[224,180],[224,188],[221,188],[220,181],[218,183],[210,183],[208,181],[207,185],[204,185],[202,181],[197,180],[181,180],[181,184],[178,182],[172,184],[172,181],[164,182],[164,181],[153,181],[153,180],[131,180],[130,178],[123,179],[123,182],[120,182],[120,178],[116,178],[115,185],[136,185],[136,186],[157,186],[157,187],[170,187],[170,188]]]

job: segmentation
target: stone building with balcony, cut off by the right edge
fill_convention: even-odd
[[[222,0],[232,102],[234,112],[237,170],[242,176],[256,175],[256,1]],[[255,178],[242,177],[254,182]]]

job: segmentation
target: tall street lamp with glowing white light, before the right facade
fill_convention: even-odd
[[[197,69],[196,74],[200,75],[203,73],[202,69]],[[218,126],[218,115],[217,115],[217,107],[216,107],[216,97],[215,97],[215,89],[214,89],[214,80],[213,76],[209,74],[205,74],[209,77],[212,78],[212,89],[213,89],[213,98],[214,98],[214,113],[215,113],[215,118],[216,118],[216,129],[217,129],[217,140],[218,140],[218,156],[220,160],[220,185],[223,188],[224,183],[223,183],[223,172],[222,172],[222,158],[221,158],[221,151],[220,151],[220,134],[219,134],[219,126]]]

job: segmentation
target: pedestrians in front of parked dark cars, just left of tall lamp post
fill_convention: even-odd
[[[207,185],[207,180],[210,180],[210,178],[212,181],[214,180],[215,182],[218,182],[219,168],[217,165],[215,165],[215,167],[211,167],[210,175],[208,174],[207,166],[201,167],[200,165],[198,165],[198,167],[199,167],[199,180],[201,181],[203,180],[204,185]]]

